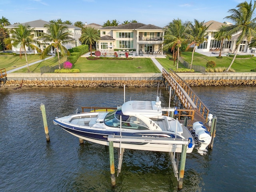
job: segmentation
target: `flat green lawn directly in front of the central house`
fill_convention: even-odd
[[[150,58],[88,60],[80,57],[73,68],[82,73],[161,73]]]

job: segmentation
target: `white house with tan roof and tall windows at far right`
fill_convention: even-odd
[[[211,24],[211,25],[210,25]],[[231,23],[227,23],[231,24]],[[208,51],[216,51],[220,50],[221,47],[221,41],[216,40],[214,38],[216,32],[222,25],[227,25],[224,23],[220,23],[217,21],[208,21],[205,23],[206,26],[209,26],[206,34],[206,39],[207,41],[204,41],[204,43],[201,43],[199,46],[196,47],[196,52],[208,52]],[[234,53],[236,51],[236,42],[237,42],[237,37],[239,36],[240,33],[235,34],[232,36],[230,40],[224,40],[223,46],[222,46],[222,51],[223,52],[232,52]],[[243,53],[252,53],[253,49],[248,47],[248,41],[243,40],[239,45],[238,45],[238,52],[243,52]]]

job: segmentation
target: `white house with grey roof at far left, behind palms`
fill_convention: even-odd
[[[27,24],[28,26],[30,26],[30,28],[34,28],[35,34],[34,34],[34,39],[37,40],[37,38],[41,35],[41,32],[46,33],[47,32],[47,28],[44,27],[45,24],[49,24],[50,22],[44,21],[44,20],[35,20],[35,21],[30,21],[30,22],[26,22],[26,23],[22,23],[22,25]],[[74,43],[68,43],[68,44],[63,44],[64,47],[66,47],[67,49],[76,47],[81,45],[81,42],[79,41],[79,38],[81,37],[81,33],[82,33],[82,29],[73,25],[67,25],[68,30],[73,34],[72,39],[74,40]],[[5,26],[4,28],[6,29],[14,29],[17,28],[18,24],[14,24],[14,25],[9,25],[9,26]],[[37,46],[41,49],[44,50],[44,48],[46,48],[46,46],[50,45],[52,42],[48,42],[48,43],[43,43],[43,40],[38,40],[40,42],[40,44],[38,44]],[[20,51],[20,47],[12,47],[13,51]],[[26,48],[26,50],[28,50]],[[52,50],[52,52],[55,52],[55,50]]]

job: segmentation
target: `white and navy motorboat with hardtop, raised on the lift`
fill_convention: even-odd
[[[195,142],[191,132],[178,119],[163,115],[161,101],[130,100],[115,110],[104,112],[77,112],[53,120],[68,133],[98,144],[108,145],[108,137],[122,136],[145,138],[147,142],[122,142],[122,148],[161,152],[181,152],[182,145],[157,142],[155,139],[188,140],[187,153],[191,153]],[[152,141],[152,142],[150,142]],[[114,142],[120,147],[120,142]]]

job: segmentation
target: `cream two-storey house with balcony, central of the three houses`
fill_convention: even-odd
[[[128,23],[120,26],[100,28],[97,50],[135,50],[146,53],[162,53],[164,29],[152,24]]]

